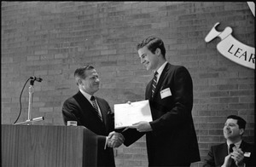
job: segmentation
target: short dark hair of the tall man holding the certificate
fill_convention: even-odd
[[[147,37],[141,43],[137,43],[137,50],[143,48],[144,46],[148,47],[153,54],[156,49],[161,50],[161,54],[166,58],[166,48],[164,42],[160,39],[160,37]]]

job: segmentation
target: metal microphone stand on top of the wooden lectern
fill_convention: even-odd
[[[31,112],[32,112],[32,98],[33,98],[33,93],[34,93],[34,85],[35,79],[30,80],[30,86],[28,88],[28,115],[27,115],[27,120],[25,122],[20,122],[16,124],[27,124],[30,125],[34,122],[42,121],[44,120],[44,117],[38,117],[38,118],[31,118]]]

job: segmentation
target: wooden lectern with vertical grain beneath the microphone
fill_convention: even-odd
[[[3,167],[96,166],[97,135],[84,126],[2,124]]]

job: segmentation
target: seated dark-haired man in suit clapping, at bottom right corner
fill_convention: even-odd
[[[255,148],[253,144],[241,139],[245,127],[246,121],[243,118],[236,115],[227,117],[223,129],[226,142],[210,148],[203,166],[256,166]]]

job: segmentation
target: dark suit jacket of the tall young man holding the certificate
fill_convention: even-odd
[[[146,88],[153,121],[146,133],[149,166],[183,166],[200,161],[195,127],[191,115],[193,84],[188,70],[167,63],[160,75],[154,97],[152,80]],[[161,98],[160,91],[170,89],[172,95]],[[125,146],[137,141],[144,133],[125,130]]]

